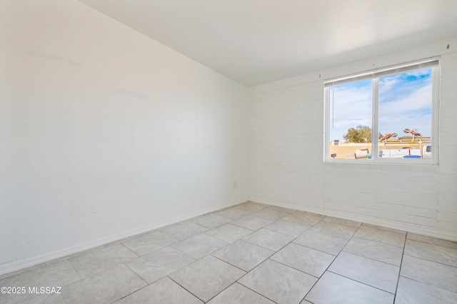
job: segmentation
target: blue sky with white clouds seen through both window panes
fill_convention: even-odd
[[[431,69],[379,78],[379,131],[405,136],[405,128],[431,136]],[[330,88],[330,140],[348,128],[371,127],[371,80]],[[332,103],[333,97],[333,103]]]

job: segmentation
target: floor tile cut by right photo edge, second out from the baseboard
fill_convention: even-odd
[[[457,267],[457,249],[406,240],[404,254]]]

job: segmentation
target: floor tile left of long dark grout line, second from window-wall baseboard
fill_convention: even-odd
[[[403,255],[403,248],[356,237],[351,238],[343,250],[396,266],[400,266]]]

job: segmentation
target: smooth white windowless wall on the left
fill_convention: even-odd
[[[76,0],[0,46],[0,273],[247,200],[243,86]]]

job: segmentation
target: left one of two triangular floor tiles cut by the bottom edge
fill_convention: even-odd
[[[156,283],[148,285],[116,302],[116,304],[128,303],[200,304],[203,302],[173,280],[162,278]]]

